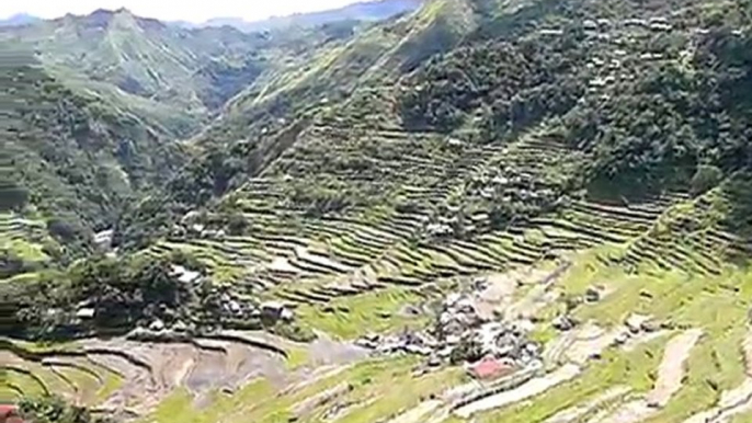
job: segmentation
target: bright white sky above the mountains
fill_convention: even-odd
[[[335,9],[356,0],[0,0],[0,19],[16,13],[52,19],[66,13],[126,8],[144,18],[204,22],[212,18],[257,21],[270,16]]]

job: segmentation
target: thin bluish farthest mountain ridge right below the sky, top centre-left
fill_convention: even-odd
[[[274,16],[264,21],[247,22],[239,18],[216,18],[200,26],[233,26],[243,32],[278,30],[286,26],[317,26],[339,21],[380,21],[417,10],[423,0],[377,0],[350,4],[344,8],[315,13]]]

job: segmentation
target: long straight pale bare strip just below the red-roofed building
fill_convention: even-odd
[[[534,378],[515,389],[503,391],[460,407],[459,409],[455,410],[454,413],[463,419],[468,419],[470,415],[480,411],[498,409],[520,402],[527,398],[540,395],[559,384],[574,378],[580,374],[580,366],[567,364],[545,376]]]

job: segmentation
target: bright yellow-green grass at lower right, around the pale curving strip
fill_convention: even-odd
[[[715,278],[677,272],[627,275],[618,268],[604,267],[585,254],[576,261],[574,267],[558,285],[567,294],[582,294],[594,284],[615,290],[603,301],[579,309],[574,316],[582,321],[594,320],[613,327],[635,312],[653,316],[657,321],[670,320],[677,325],[700,328],[705,332],[688,358],[684,386],[650,422],[681,422],[710,408],[720,391],[742,381],[744,366],[740,345],[747,334],[749,308],[749,300],[744,298],[752,296],[752,273],[749,271],[729,267],[722,276]],[[730,291],[729,285],[740,291]],[[645,291],[652,298],[640,296]],[[483,414],[481,421],[540,422],[615,386],[627,385],[634,392],[645,392],[652,387],[665,341],[663,336],[628,354],[609,352],[578,379],[529,402]]]

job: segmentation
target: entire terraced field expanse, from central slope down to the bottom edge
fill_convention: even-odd
[[[609,52],[593,45],[594,55]],[[353,102],[371,99],[364,92]],[[394,112],[377,100],[375,114]],[[726,186],[557,201],[589,152],[559,142],[546,123],[476,144],[350,112],[357,125],[317,122],[227,197],[246,235],[169,237],[144,252],[190,252],[216,282],[295,308],[319,341],[236,333],[36,353],[16,345],[0,351],[0,399],[54,391],[159,423],[751,421],[752,274],[736,260],[752,242],[718,218]],[[504,203],[537,213],[499,224],[494,206]],[[10,240],[36,227],[0,215]],[[537,277],[551,268],[561,271]],[[414,356],[369,357],[350,343],[429,324],[437,293],[475,278],[513,282],[485,311],[532,324],[542,367],[483,384],[457,366],[413,373]],[[592,288],[601,298],[582,301]],[[580,324],[552,329],[563,315]],[[627,328],[634,316],[649,330]]]

